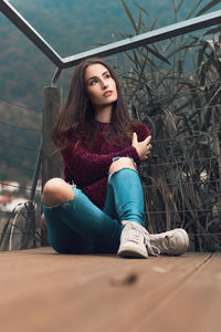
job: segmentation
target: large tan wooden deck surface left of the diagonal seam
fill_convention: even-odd
[[[188,253],[139,260],[60,256],[50,248],[1,252],[1,329],[148,331],[161,308],[207,266],[209,257]]]

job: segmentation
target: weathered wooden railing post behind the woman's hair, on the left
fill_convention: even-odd
[[[43,159],[42,159],[42,188],[53,177],[61,177],[61,158],[53,156],[55,149],[51,139],[51,132],[54,121],[62,106],[62,89],[48,86],[44,89],[44,112],[43,112]]]

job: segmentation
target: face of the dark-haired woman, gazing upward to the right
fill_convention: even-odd
[[[116,82],[103,64],[88,65],[84,81],[87,97],[95,108],[105,107],[117,101]]]

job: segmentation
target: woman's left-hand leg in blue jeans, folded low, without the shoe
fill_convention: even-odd
[[[94,252],[95,241],[105,243],[107,252],[117,251],[123,226],[99,210],[80,189],[64,180],[54,178],[46,183],[43,212],[50,243],[56,251],[66,252],[72,240],[71,253]]]

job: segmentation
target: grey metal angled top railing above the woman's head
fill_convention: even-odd
[[[56,65],[56,71],[52,77],[52,84],[57,81],[63,69],[74,66],[86,58],[117,54],[143,45],[159,42],[168,38],[178,37],[191,31],[201,30],[221,23],[221,10],[218,10],[198,18],[170,24],[165,28],[127,38],[75,55],[61,58],[59,53],[38,33],[38,31],[15,10],[11,3],[9,3],[7,0],[0,0],[0,10],[51,60],[51,62]]]

